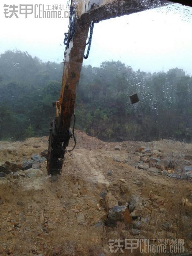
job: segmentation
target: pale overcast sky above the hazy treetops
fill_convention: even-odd
[[[12,4],[6,3],[6,4]],[[14,4],[67,4],[50,0]],[[27,51],[43,61],[63,61],[68,19],[35,19],[31,14],[6,19],[0,6],[0,53]],[[95,24],[90,55],[84,64],[120,60],[134,70],[167,71],[178,67],[192,75],[192,8],[174,4]]]

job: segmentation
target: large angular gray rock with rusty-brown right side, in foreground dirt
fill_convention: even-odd
[[[123,222],[126,208],[126,206],[115,206],[111,208],[106,221],[107,226],[116,226],[118,221]]]

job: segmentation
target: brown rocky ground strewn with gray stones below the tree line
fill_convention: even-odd
[[[0,142],[0,255],[121,255],[109,240],[137,238],[182,239],[185,252],[166,255],[192,255],[192,144],[76,136],[57,182],[47,137]]]

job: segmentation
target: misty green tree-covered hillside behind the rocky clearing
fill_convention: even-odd
[[[48,135],[63,63],[27,52],[0,55],[0,140]],[[140,101],[131,105],[129,95]],[[192,140],[192,78],[182,69],[146,73],[120,61],[83,66],[76,128],[102,140]]]

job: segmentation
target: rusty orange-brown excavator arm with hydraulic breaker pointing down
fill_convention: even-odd
[[[187,0],[177,2],[186,4]],[[170,2],[164,0],[71,1],[69,31],[65,33],[64,40],[66,49],[61,93],[59,100],[53,102],[56,117],[50,124],[47,172],[52,175],[53,180],[61,174],[66,147],[72,135],[70,125],[74,115],[76,86],[79,82],[90,27],[93,29],[93,24],[101,20],[161,7],[167,3]]]

